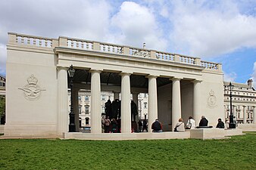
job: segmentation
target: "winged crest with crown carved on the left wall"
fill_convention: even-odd
[[[38,80],[36,77],[31,75],[27,79],[28,84],[24,85],[23,88],[19,88],[20,90],[23,90],[24,97],[27,100],[38,100],[39,97],[41,96],[41,91],[45,91],[45,89],[40,88],[39,85],[36,85]]]

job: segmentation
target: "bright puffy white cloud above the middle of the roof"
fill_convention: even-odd
[[[123,2],[120,11],[111,19],[114,42],[124,45],[165,50],[167,41],[149,8],[135,2]]]

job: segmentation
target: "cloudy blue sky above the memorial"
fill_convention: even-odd
[[[8,32],[67,36],[201,57],[224,81],[256,87],[255,0],[2,0],[0,74]]]

